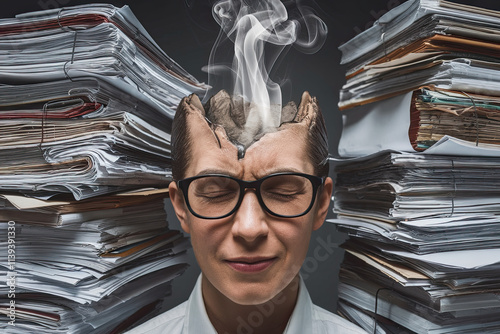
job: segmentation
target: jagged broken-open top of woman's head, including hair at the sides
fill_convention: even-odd
[[[294,102],[288,103],[282,109],[282,122],[278,127],[254,124],[249,127],[243,108],[238,108],[239,101],[221,91],[203,106],[196,95],[182,100],[177,109],[174,127],[172,129],[172,154],[174,158],[173,176],[175,180],[183,177],[183,171],[188,166],[191,138],[203,137],[214,141],[219,149],[234,150],[235,158],[243,159],[246,150],[263,136],[276,131],[293,128],[305,128],[307,138],[297,137],[296,140],[307,141],[308,154],[311,162],[321,170],[320,176],[326,173],[324,166],[328,162],[328,140],[323,116],[316,98],[304,92],[297,107]],[[290,143],[293,145],[293,143]]]

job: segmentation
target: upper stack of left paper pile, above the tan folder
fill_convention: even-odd
[[[128,7],[0,20],[0,190],[75,199],[170,180],[180,99],[203,93]]]

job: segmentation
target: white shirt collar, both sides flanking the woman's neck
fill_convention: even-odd
[[[312,306],[309,292],[307,292],[306,285],[302,277],[300,277],[297,303],[283,334],[312,333]],[[205,303],[203,302],[201,274],[188,300],[182,333],[217,334],[217,331],[208,318]]]

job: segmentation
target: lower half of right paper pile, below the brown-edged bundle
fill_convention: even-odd
[[[372,333],[498,332],[499,164],[500,152],[339,162],[339,311]]]

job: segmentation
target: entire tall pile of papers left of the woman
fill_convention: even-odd
[[[170,126],[207,87],[111,5],[0,20],[0,83],[0,331],[151,316],[187,267],[164,208]]]

